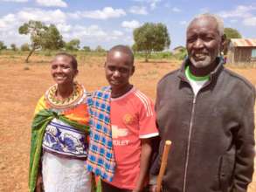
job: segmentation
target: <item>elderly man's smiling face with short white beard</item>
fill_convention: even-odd
[[[214,64],[221,44],[222,38],[214,18],[198,18],[188,27],[186,47],[190,62],[196,68]]]

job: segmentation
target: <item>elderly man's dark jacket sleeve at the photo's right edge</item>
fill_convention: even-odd
[[[241,110],[240,126],[234,135],[236,145],[236,161],[232,192],[246,192],[252,182],[254,158],[254,104],[255,90],[246,99]]]

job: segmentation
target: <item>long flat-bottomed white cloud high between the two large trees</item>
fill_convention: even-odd
[[[112,7],[105,7],[103,10],[86,10],[77,12],[80,17],[94,18],[94,19],[107,19],[111,17],[125,16],[126,12],[122,9],[113,9]]]

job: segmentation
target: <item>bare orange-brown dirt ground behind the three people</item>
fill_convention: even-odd
[[[25,65],[22,56],[0,56],[0,192],[28,191],[30,126],[39,97],[54,83],[50,76],[50,59],[31,57],[31,63]],[[107,84],[103,62],[104,58],[79,58],[77,79],[88,91]],[[157,81],[179,66],[176,62],[165,61],[135,63],[132,83],[152,99],[156,97]],[[229,68],[256,85],[256,68]],[[256,191],[255,172],[248,191]]]

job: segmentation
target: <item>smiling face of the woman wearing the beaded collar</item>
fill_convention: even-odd
[[[52,60],[52,78],[59,85],[72,85],[78,70],[73,68],[71,58],[59,55]]]

